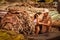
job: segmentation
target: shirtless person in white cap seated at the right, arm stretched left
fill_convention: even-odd
[[[39,18],[38,23],[40,25],[41,33],[50,32],[51,30],[51,17],[48,15],[49,10],[44,9],[41,18]]]

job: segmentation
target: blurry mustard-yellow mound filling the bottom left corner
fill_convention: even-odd
[[[16,34],[13,31],[0,30],[0,40],[24,40],[24,36],[22,34]]]

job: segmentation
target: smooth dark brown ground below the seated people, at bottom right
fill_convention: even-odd
[[[60,32],[39,34],[38,36],[28,36],[28,40],[60,40]]]

